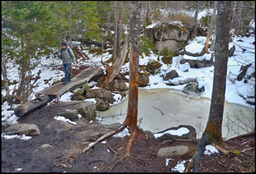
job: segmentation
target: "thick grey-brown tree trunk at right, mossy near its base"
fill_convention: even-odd
[[[229,51],[229,32],[231,21],[231,2],[218,1],[216,45],[215,45],[215,65],[212,86],[212,102],[210,107],[207,127],[199,142],[195,154],[192,158],[194,163],[193,172],[199,172],[201,156],[208,143],[223,142],[222,139],[222,120],[224,113],[224,96],[226,87],[228,51]]]

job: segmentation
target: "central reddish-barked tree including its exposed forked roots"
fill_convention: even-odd
[[[125,121],[119,126],[115,131],[111,131],[108,134],[100,137],[96,142],[91,143],[88,147],[84,148],[84,153],[86,153],[90,148],[94,147],[96,143],[102,142],[109,136],[113,136],[120,131],[124,131],[128,128],[131,133],[129,142],[127,143],[125,155],[119,159],[125,159],[125,157],[130,156],[130,150],[132,143],[136,140],[137,136],[142,135],[142,131],[137,126],[137,102],[138,102],[138,56],[139,56],[139,44],[140,44],[140,13],[141,13],[142,3],[137,1],[132,1],[130,4],[130,72],[129,72],[129,96],[128,96],[128,108]],[[117,161],[114,165],[116,165]],[[114,167],[113,165],[113,167]],[[113,169],[113,167],[111,169]]]

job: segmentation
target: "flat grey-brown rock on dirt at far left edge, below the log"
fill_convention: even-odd
[[[13,134],[18,134],[22,136],[23,134],[25,136],[39,136],[40,131],[38,129],[37,125],[33,124],[16,124],[16,125],[11,125],[9,128],[4,130],[4,133],[7,135],[13,135]]]

